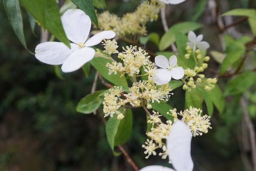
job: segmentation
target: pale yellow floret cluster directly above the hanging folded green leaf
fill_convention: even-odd
[[[117,119],[122,119],[124,117],[123,114],[119,112],[121,107],[125,106],[124,99],[120,98],[122,92],[122,87],[115,86],[109,90],[109,93],[104,94],[104,101],[102,102],[103,112],[105,113],[104,117],[113,117],[115,113],[118,114]],[[123,111],[125,111],[124,108]]]

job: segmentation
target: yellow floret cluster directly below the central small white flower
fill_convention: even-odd
[[[154,103],[157,101],[160,103],[161,100],[167,100],[172,95],[169,84],[157,87],[152,81],[148,80],[134,82],[129,91],[131,93],[124,95],[126,97],[125,101],[134,107],[140,106],[143,102],[151,101]]]

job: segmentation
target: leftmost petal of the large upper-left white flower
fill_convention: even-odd
[[[45,64],[60,65],[79,47],[75,43],[70,43],[69,49],[64,43],[47,41],[35,47],[35,58]]]

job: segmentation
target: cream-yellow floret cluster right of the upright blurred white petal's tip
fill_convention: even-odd
[[[170,114],[174,117],[174,122],[177,121],[177,115],[182,116],[182,121],[185,122],[192,131],[193,136],[203,135],[203,133],[208,133],[208,128],[212,129],[210,117],[208,115],[201,116],[203,112],[201,109],[195,107],[189,107],[189,109],[183,112],[177,113],[177,109],[169,110]]]

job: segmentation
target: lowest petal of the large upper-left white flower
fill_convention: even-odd
[[[83,47],[73,54],[62,64],[63,72],[73,72],[81,68],[85,63],[93,59],[95,50],[91,47]]]

